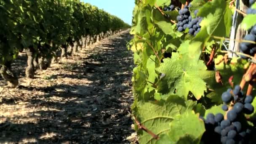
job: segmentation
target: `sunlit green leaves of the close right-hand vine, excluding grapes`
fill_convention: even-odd
[[[231,84],[240,83],[248,61],[224,60],[223,40],[216,39],[230,35],[229,1],[192,1],[190,13],[199,9],[197,16],[203,18],[195,37],[187,35],[187,31],[177,32],[176,24],[170,21],[176,20],[177,11],[164,12],[169,15],[167,18],[156,8],[169,5],[167,2],[136,0],[131,28],[134,38],[130,42],[137,65],[132,78],[132,112],[142,125],[159,136],[156,140],[146,131],[136,129],[141,144],[198,144],[205,132],[198,116],[224,114],[221,94],[232,88]],[[254,21],[247,22],[246,17],[243,23],[253,25]],[[207,65],[213,47],[213,64]],[[221,82],[216,81],[216,71]]]

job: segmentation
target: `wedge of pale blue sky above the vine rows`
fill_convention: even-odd
[[[120,19],[131,25],[134,0],[81,0],[91,3],[108,13],[118,16]]]

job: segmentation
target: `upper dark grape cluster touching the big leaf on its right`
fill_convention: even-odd
[[[195,19],[192,19],[191,16],[189,18],[189,24],[187,25],[187,28],[189,28],[189,35],[195,36],[201,29],[200,22],[203,20],[203,18],[198,17],[197,13],[198,13],[198,10],[195,10],[194,11],[194,14],[196,16]]]

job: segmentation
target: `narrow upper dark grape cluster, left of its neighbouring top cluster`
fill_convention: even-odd
[[[185,5],[183,9],[179,10],[179,16],[177,16],[177,27],[179,32],[183,32],[189,24],[190,12],[188,6]]]

